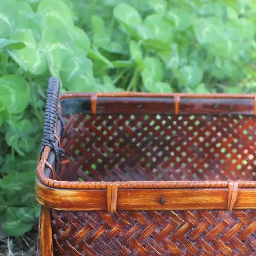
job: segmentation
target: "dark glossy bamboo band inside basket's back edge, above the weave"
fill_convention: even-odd
[[[80,95],[80,94],[79,94]],[[122,94],[119,94],[122,95]],[[65,95],[66,96],[66,95]],[[255,100],[252,97],[233,98],[224,96],[221,98],[191,98],[178,95],[152,95],[142,97],[135,94],[128,97],[123,94],[119,97],[103,97],[95,95],[88,97],[66,98],[62,96],[60,103],[63,114],[80,113],[122,113],[122,114],[254,114]],[[76,95],[75,95],[76,96]],[[87,97],[86,97],[87,96]],[[153,97],[155,96],[155,97]],[[166,96],[166,95],[165,95]],[[187,96],[187,95],[186,95]],[[206,96],[206,95],[205,95]],[[61,97],[61,96],[60,96]]]

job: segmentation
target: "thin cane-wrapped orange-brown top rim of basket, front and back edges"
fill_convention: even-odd
[[[256,94],[189,94],[189,93],[147,93],[147,92],[99,92],[99,93],[62,93],[59,101],[67,98],[80,97],[176,97],[191,99],[254,99]],[[256,104],[255,104],[256,109]],[[191,113],[193,114],[193,113]],[[227,180],[203,180],[203,181],[59,181],[48,178],[45,173],[45,165],[50,154],[50,147],[45,146],[42,157],[37,165],[37,178],[42,184],[52,188],[61,189],[106,189],[108,184],[116,184],[118,189],[165,189],[165,188],[227,188],[230,182]],[[256,188],[256,181],[239,180],[239,188]]]

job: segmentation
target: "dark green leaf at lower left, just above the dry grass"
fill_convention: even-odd
[[[21,236],[31,230],[33,223],[27,223],[19,219],[18,207],[8,207],[3,216],[2,229],[9,236]]]

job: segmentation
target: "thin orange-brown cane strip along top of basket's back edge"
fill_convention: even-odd
[[[96,94],[97,97],[173,97],[178,95],[180,98],[188,99],[254,99],[254,94],[227,94],[227,93],[211,93],[211,94],[190,94],[190,93],[144,93],[144,92],[113,92],[113,93],[65,93],[60,94],[59,100],[66,98],[91,97]]]

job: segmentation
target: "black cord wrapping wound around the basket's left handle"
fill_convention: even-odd
[[[59,148],[56,145],[56,137],[54,135],[56,116],[61,121],[62,131],[61,137],[64,133],[64,123],[60,114],[60,109],[57,107],[59,97],[60,82],[58,78],[51,77],[48,82],[47,94],[46,94],[46,105],[45,105],[45,117],[44,117],[44,134],[42,139],[42,147],[40,150],[40,156],[45,146],[49,146],[56,155],[56,168],[59,165],[59,159],[65,157],[63,148]],[[58,111],[57,111],[58,109]]]

